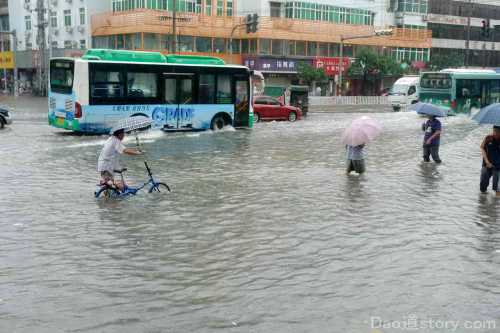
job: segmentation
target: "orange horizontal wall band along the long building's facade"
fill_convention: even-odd
[[[244,22],[243,17],[206,16],[178,13],[177,33],[188,36],[229,38],[232,28]],[[341,36],[369,35],[373,26],[335,24],[324,21],[296,20],[261,17],[259,31],[247,34],[245,28],[237,29],[234,38],[266,38],[339,43]],[[172,33],[172,14],[167,11],[138,9],[128,12],[102,13],[92,16],[92,35],[106,36],[137,32]],[[370,37],[353,40],[352,44],[430,48],[430,30],[395,28],[392,36]]]

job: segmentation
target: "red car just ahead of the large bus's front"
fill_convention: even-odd
[[[295,106],[284,105],[276,98],[259,96],[253,101],[253,121],[288,120],[295,121],[302,117],[302,112]]]

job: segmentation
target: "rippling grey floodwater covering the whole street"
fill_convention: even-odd
[[[96,200],[106,137],[48,127],[45,105],[19,100],[0,131],[0,332],[500,331],[500,200],[479,194],[489,129],[467,117],[444,120],[436,167],[421,118],[373,114],[363,177],[339,143],[356,114],[149,132],[173,192]],[[142,161],[123,159],[129,183]]]

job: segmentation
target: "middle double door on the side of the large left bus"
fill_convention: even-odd
[[[164,73],[166,130],[193,128],[194,74]]]

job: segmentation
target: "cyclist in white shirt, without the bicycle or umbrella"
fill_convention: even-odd
[[[141,155],[142,152],[138,149],[127,148],[123,145],[122,140],[125,137],[124,130],[118,130],[109,137],[104,144],[99,160],[97,161],[97,171],[101,173],[101,184],[116,186],[120,191],[123,191],[124,185],[121,181],[115,181],[114,171],[121,170],[119,155]]]

